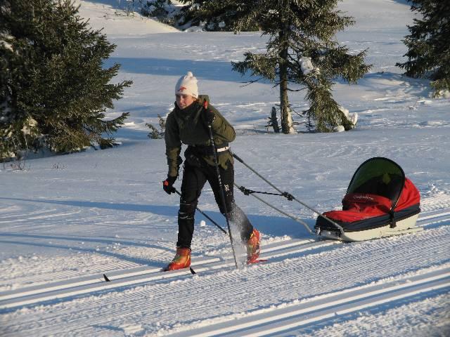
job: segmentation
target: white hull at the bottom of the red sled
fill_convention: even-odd
[[[336,239],[345,242],[366,241],[371,239],[379,239],[380,237],[390,237],[392,235],[401,235],[406,233],[413,233],[423,230],[423,227],[417,227],[416,221],[418,214],[410,216],[409,218],[397,221],[397,226],[390,227],[387,223],[383,227],[373,228],[371,230],[360,230],[358,232],[344,232],[340,235],[340,232],[333,232],[330,230],[321,230],[319,235],[328,239]]]

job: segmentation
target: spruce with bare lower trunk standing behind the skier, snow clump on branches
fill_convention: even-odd
[[[211,0],[208,6],[234,8],[233,28],[260,27],[269,36],[266,53],[245,53],[242,62],[233,62],[241,74],[269,79],[280,87],[281,127],[293,133],[288,93],[306,88],[310,101],[307,117],[317,131],[331,131],[353,125],[331,94],[333,79],[355,83],[370,68],[364,64],[366,51],[349,53],[335,34],[352,25],[352,18],[335,9],[338,0]],[[290,87],[289,84],[293,84]]]

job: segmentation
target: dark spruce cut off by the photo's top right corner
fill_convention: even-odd
[[[410,0],[420,18],[404,39],[408,61],[397,63],[410,77],[431,79],[434,96],[450,90],[450,1]]]

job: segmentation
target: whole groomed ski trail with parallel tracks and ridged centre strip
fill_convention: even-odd
[[[450,209],[425,206],[418,225],[425,230],[371,242],[267,244],[262,258],[269,262],[242,270],[211,256],[193,260],[198,275],[141,266],[108,272],[112,282],[84,275],[4,291],[2,336],[291,336],[376,305],[448,295]],[[179,308],[180,297],[189,305]]]

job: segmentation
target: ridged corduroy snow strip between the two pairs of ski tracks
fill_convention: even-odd
[[[136,286],[134,289],[127,289],[122,292],[113,291],[108,294],[101,294],[100,296],[90,296],[89,298],[79,300],[75,299],[69,303],[46,305],[44,307],[46,310],[44,311],[56,312],[53,315],[51,315],[50,312],[49,315],[44,313],[44,317],[39,319],[39,322],[42,324],[39,325],[43,326],[44,331],[38,326],[33,327],[33,325],[36,324],[36,317],[30,317],[28,320],[21,319],[20,326],[23,329],[22,331],[31,329],[27,333],[31,333],[32,336],[41,336],[41,333],[45,333],[46,329],[51,329],[51,331],[54,331],[55,333],[64,333],[65,331],[87,332],[92,331],[92,329],[94,329],[93,326],[108,326],[108,324],[105,324],[104,319],[101,318],[102,315],[98,315],[98,309],[89,309],[89,304],[84,305],[84,302],[89,303],[91,300],[102,300],[100,310],[105,310],[105,312],[108,311],[108,315],[111,315],[110,311],[114,310],[113,317],[117,320],[123,320],[124,318],[132,319],[134,315],[136,316],[136,308],[140,308],[139,317],[151,317],[152,312],[158,312],[159,321],[163,325],[166,324],[166,326],[169,326],[169,322],[177,322],[177,319],[179,319],[179,312],[170,312],[169,310],[169,308],[176,308],[176,296],[179,293],[186,293],[186,296],[192,298],[193,305],[191,308],[188,308],[188,322],[195,322],[202,319],[202,317],[205,316],[205,310],[214,311],[214,315],[208,318],[231,315],[233,312],[220,309],[220,303],[225,301],[226,293],[230,292],[233,293],[233,297],[236,300],[236,302],[233,303],[235,312],[248,312],[255,310],[255,307],[269,308],[270,305],[276,305],[280,302],[285,303],[286,301],[293,299],[308,298],[336,291],[336,289],[333,289],[333,284],[316,284],[316,282],[314,282],[314,279],[320,280],[323,277],[323,270],[328,272],[328,279],[340,277],[342,276],[342,272],[346,273],[349,272],[349,270],[356,270],[357,273],[354,277],[347,279],[345,284],[342,282],[340,283],[344,288],[351,289],[354,286],[361,286],[368,282],[374,282],[383,277],[393,277],[399,275],[399,273],[402,274],[420,270],[420,268],[428,267],[433,265],[433,263],[439,264],[445,259],[448,260],[447,252],[449,251],[449,244],[445,242],[444,238],[445,234],[449,234],[449,230],[446,228],[439,228],[427,232],[426,235],[406,235],[401,238],[389,240],[383,239],[378,242],[368,242],[367,244],[340,245],[331,252],[313,253],[313,256],[303,256],[299,259],[302,260],[302,263],[298,266],[295,264],[290,265],[288,260],[283,260],[267,265],[250,266],[240,272],[219,272],[215,276],[206,274],[205,277],[195,277],[195,282],[203,283],[201,288],[208,291],[208,298],[218,299],[215,300],[215,302],[213,301],[213,305],[211,305],[211,303],[205,303],[205,298],[203,297],[201,297],[200,300],[195,298],[198,294],[190,293],[189,290],[192,286],[193,279],[177,279],[168,283]],[[418,240],[419,237],[421,240]],[[433,244],[430,244],[431,242]],[[380,270],[379,261],[371,256],[376,256],[376,251],[380,249],[391,250],[395,246],[398,247],[399,244],[402,246],[409,246],[411,248],[411,254],[416,257],[421,256],[421,258],[415,258],[413,265],[411,265],[411,260],[409,258],[393,254],[390,256],[392,263],[383,263]],[[426,250],[424,250],[424,245]],[[428,254],[424,254],[424,251],[427,251]],[[324,260],[316,262],[317,258],[320,259],[321,255],[326,255],[327,253],[339,254],[340,258],[345,260],[345,267],[342,268],[338,265],[327,265]],[[361,259],[364,258],[364,271],[361,272],[361,262],[356,261],[355,257]],[[296,259],[291,258],[289,260],[295,261]],[[401,260],[401,263],[399,263],[399,260]],[[386,266],[392,267],[386,268]],[[273,282],[274,284],[264,284],[264,281],[266,281],[264,275],[269,271],[272,275],[267,281]],[[273,275],[279,275],[276,277],[275,281]],[[299,281],[298,275],[305,275],[305,277],[302,277]],[[238,277],[238,282],[236,282],[236,277]],[[214,284],[218,282],[218,279],[221,286],[214,287]],[[304,279],[307,279],[307,281]],[[264,292],[264,301],[255,303],[254,300],[249,300],[249,293],[240,285],[242,282],[245,282],[245,289],[255,289],[255,293],[250,295],[258,296],[258,289],[266,289]],[[261,286],[262,284],[264,286]],[[293,287],[296,289],[294,296],[292,290]],[[155,293],[164,293],[165,296],[157,299],[154,298]],[[300,297],[298,297],[299,294],[301,294]],[[254,296],[250,296],[250,298],[253,298]],[[121,303],[134,303],[134,305],[131,306],[129,310],[124,311]],[[75,306],[75,308],[72,308],[72,306]],[[78,306],[84,308],[77,309]],[[67,309],[62,310],[60,307],[67,307]],[[223,305],[221,307],[224,308]],[[54,308],[54,310],[51,310],[52,308]],[[145,308],[145,310],[143,310],[143,308]],[[39,310],[37,311],[37,315],[39,315]],[[77,312],[84,312],[84,315],[81,315],[81,317],[73,317],[74,315],[77,315]],[[70,326],[68,327],[65,325],[64,331],[58,330],[58,322],[55,321],[58,321],[58,317],[65,317],[68,315],[72,316],[70,319]],[[52,322],[54,323],[52,324]],[[82,326],[84,326],[84,328],[82,328]],[[15,330],[13,326],[10,326],[10,329]],[[96,331],[98,331],[98,329],[96,329]]]

